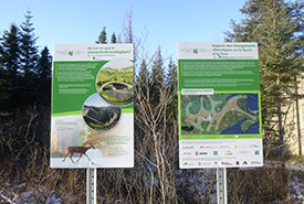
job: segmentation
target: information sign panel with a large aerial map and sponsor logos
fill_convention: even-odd
[[[263,165],[256,43],[178,43],[179,167]]]

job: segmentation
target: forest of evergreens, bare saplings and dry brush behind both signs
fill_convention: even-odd
[[[264,168],[229,169],[231,203],[301,203],[303,170],[287,168],[289,105],[304,68],[304,2],[248,0],[228,42],[258,42]],[[85,203],[85,170],[50,169],[52,56],[36,45],[32,13],[0,36],[0,201]],[[178,168],[177,65],[134,36],[133,12],[122,35],[104,26],[96,43],[135,44],[135,167],[98,170],[98,203],[216,203],[216,171]],[[119,32],[116,32],[119,33]],[[94,40],[92,40],[94,41]],[[303,165],[302,165],[303,167]]]

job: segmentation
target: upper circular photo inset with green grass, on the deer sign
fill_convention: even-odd
[[[96,77],[96,89],[102,98],[113,106],[127,106],[133,103],[133,62],[114,58],[106,63]]]

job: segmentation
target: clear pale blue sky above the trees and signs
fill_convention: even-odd
[[[0,0],[0,33],[11,23],[20,25],[32,12],[36,44],[94,44],[103,28],[107,39],[120,33],[132,10],[136,42],[150,55],[158,46],[165,58],[175,60],[178,42],[222,42],[231,19],[244,18],[245,0]]]

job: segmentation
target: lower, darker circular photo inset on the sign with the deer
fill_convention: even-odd
[[[97,93],[85,100],[82,109],[85,124],[97,131],[113,129],[119,121],[120,115],[120,107],[106,104]]]

